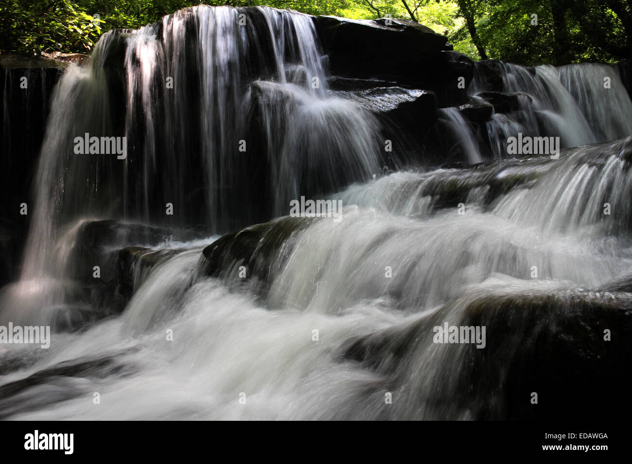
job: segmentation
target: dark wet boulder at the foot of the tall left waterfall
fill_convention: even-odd
[[[183,250],[121,248],[132,244],[155,246],[171,236],[169,229],[114,220],[86,221],[78,226],[74,237],[66,235],[66,241],[58,244],[62,254],[56,261],[56,271],[63,280],[51,282],[53,290],[45,290],[61,295],[46,303],[46,312],[52,314],[52,330],[76,330],[122,312],[149,271],[162,259]],[[99,266],[99,275],[95,275],[94,266]],[[20,282],[15,285],[15,289],[7,289],[19,295]],[[32,296],[34,304],[40,304],[37,295]]]

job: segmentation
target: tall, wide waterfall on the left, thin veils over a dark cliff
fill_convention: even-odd
[[[271,8],[199,6],[106,33],[55,90],[21,286],[66,275],[54,249],[81,218],[226,232],[368,179],[379,126],[328,96],[325,61],[310,16]],[[125,137],[126,158],[76,154],[84,134]]]

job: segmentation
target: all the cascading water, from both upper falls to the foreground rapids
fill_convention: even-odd
[[[382,121],[329,91],[325,63],[308,16],[200,6],[107,33],[66,71],[0,325],[67,318],[47,350],[0,345],[0,418],[524,419],[525,392],[573,414],[600,376],[621,400],[629,344],[598,343],[632,307],[632,104],[612,68],[503,64],[519,107],[485,129],[497,158],[520,131],[624,140],[482,162],[443,109],[477,164],[377,175]],[[75,155],[83,133],[126,136],[126,159]],[[306,194],[341,201],[339,220],[286,217]],[[487,339],[436,343],[444,323]]]

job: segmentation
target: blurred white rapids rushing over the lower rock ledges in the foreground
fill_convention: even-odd
[[[558,195],[540,201],[544,204],[571,201],[573,189],[551,192],[549,184],[559,184],[557,177],[571,172],[564,165],[585,161],[588,152],[578,150],[546,169],[525,166],[538,173],[530,192]],[[618,159],[616,148],[611,152]],[[403,364],[384,360],[394,369],[391,375],[384,366],[368,370],[339,354],[349,341],[375,332],[432,326],[436,318],[458,323],[478,299],[528,300],[598,288],[629,270],[632,249],[591,222],[579,220],[564,234],[537,221],[525,225],[506,214],[508,203],[517,211],[540,211],[542,218],[548,210],[520,189],[501,196],[490,212],[468,205],[465,215],[456,207],[430,213],[384,201],[410,196],[400,187],[406,182],[423,184],[437,176],[450,182],[450,172],[459,174],[401,172],[351,187],[343,198],[357,198],[364,206],[348,206],[340,223],[322,218],[301,232],[263,304],[247,285],[231,292],[219,280],[197,275],[202,244],[183,244],[190,251],[155,267],[122,316],[83,333],[56,334],[47,351],[6,352],[30,364],[2,376],[2,384],[64,360],[114,355],[121,366],[106,378],[92,373],[27,390],[11,419],[475,417],[475,408],[441,401],[459,394],[450,390],[457,388],[458,364],[446,367],[459,357],[430,338],[411,347]],[[512,168],[501,172],[509,175]],[[597,191],[619,171],[606,160],[602,172],[601,180],[593,181]],[[420,199],[425,205],[431,201]],[[564,223],[555,215],[549,219]],[[385,277],[386,266],[392,278]],[[532,278],[532,266],[538,278]],[[319,331],[318,341],[312,340],[313,330]],[[432,392],[439,386],[437,396]],[[60,389],[68,399],[51,405],[42,400],[55,399]],[[92,403],[94,392],[100,393],[99,405]],[[384,407],[387,392],[398,400],[391,409]],[[245,404],[239,402],[241,393]],[[3,408],[0,403],[6,414]]]

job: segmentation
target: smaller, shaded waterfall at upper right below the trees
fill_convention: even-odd
[[[516,96],[518,107],[494,112],[485,123],[496,158],[507,157],[507,138],[518,133],[559,137],[562,148],[568,148],[617,140],[632,131],[632,102],[614,66],[525,68],[501,62],[499,73],[502,92]],[[491,87],[478,66],[468,93],[484,95],[488,90]]]

